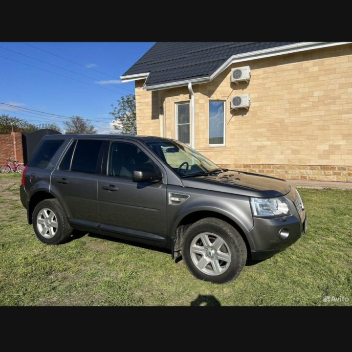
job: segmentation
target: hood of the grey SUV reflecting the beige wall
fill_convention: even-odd
[[[281,197],[291,190],[291,185],[283,179],[236,170],[182,178],[182,183],[185,187],[262,198]]]

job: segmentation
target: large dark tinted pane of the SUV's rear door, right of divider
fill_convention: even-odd
[[[79,139],[72,159],[71,171],[95,173],[101,140]]]

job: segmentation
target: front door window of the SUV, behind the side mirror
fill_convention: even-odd
[[[154,162],[137,146],[125,142],[111,142],[109,176],[131,178],[134,170],[156,170]]]

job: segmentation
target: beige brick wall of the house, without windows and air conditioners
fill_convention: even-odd
[[[246,65],[251,67],[249,84],[231,83],[231,68]],[[136,83],[138,134],[162,134],[156,104],[164,108],[166,137],[175,138],[175,103],[190,99],[187,87],[152,93],[142,89],[143,83]],[[352,165],[352,44],[234,64],[193,89],[195,148],[217,164],[252,165],[242,169],[265,170],[282,178],[351,181],[351,170],[338,168]],[[244,93],[251,96],[250,109],[230,110],[231,96]],[[209,100],[226,102],[224,147],[208,144]],[[340,171],[346,174],[338,175]]]

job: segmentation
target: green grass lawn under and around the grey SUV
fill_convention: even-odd
[[[300,189],[308,232],[227,285],[195,279],[166,251],[93,234],[48,246],[19,198],[19,174],[0,176],[0,306],[351,305],[352,191]],[[349,302],[324,302],[330,296]]]

